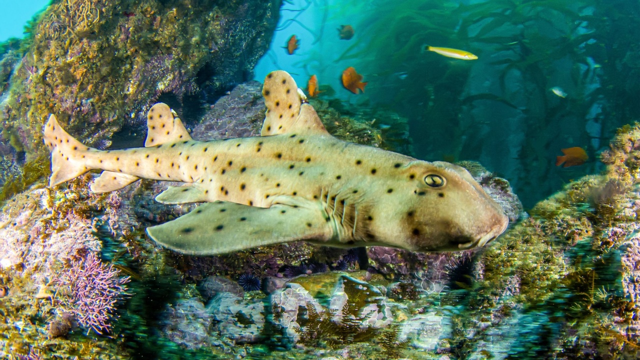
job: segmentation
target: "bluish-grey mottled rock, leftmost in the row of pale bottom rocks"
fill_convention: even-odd
[[[212,345],[209,335],[214,316],[198,298],[180,299],[163,312],[160,320],[166,338],[186,348]]]

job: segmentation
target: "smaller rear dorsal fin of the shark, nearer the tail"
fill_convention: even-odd
[[[158,102],[147,115],[147,141],[145,146],[156,146],[191,140],[191,135],[178,115],[164,102]]]

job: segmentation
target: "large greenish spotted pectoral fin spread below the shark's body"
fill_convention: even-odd
[[[208,202],[176,220],[147,228],[160,245],[184,254],[216,255],[296,240],[329,240],[333,229],[320,204],[257,208]]]

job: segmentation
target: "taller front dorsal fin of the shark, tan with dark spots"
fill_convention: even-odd
[[[264,79],[262,95],[267,106],[260,135],[321,133],[328,135],[316,110],[298,94],[298,85],[288,72],[270,72]]]

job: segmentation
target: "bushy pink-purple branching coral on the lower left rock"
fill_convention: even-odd
[[[74,314],[81,326],[98,334],[109,332],[115,304],[127,295],[129,277],[120,277],[113,265],[103,264],[93,253],[66,265],[54,279],[60,305]]]

